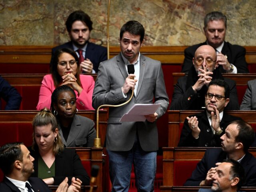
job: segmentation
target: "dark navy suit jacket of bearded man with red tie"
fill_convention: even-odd
[[[54,52],[62,48],[70,48],[73,50],[73,44],[70,41],[60,46],[52,48],[52,58],[51,58],[50,66],[52,66]],[[107,48],[88,42],[86,47],[86,53],[85,53],[85,59],[86,58],[90,59],[90,61],[93,64],[94,71],[98,73],[98,67],[100,62],[107,60]]]

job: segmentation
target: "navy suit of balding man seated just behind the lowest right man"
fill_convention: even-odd
[[[227,158],[227,153],[221,148],[210,148],[204,153],[204,157],[197,164],[196,169],[192,172],[192,176],[186,180],[184,186],[199,186],[202,180],[205,180],[208,170],[216,167],[217,162],[222,162]],[[249,152],[246,152],[244,158],[240,162],[243,166],[246,180],[244,187],[256,186],[256,158]]]

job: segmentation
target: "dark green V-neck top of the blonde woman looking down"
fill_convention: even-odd
[[[38,157],[38,177],[46,179],[55,176],[55,160],[50,168],[46,165],[41,156]]]

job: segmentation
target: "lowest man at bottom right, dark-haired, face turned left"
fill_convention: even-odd
[[[235,160],[224,160],[212,175],[212,188],[199,189],[198,192],[241,192],[238,189],[244,182],[244,168]]]

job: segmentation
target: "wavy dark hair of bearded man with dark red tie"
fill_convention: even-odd
[[[82,10],[76,10],[76,11],[72,12],[66,20],[66,28],[69,33],[71,31],[72,24],[75,21],[84,22],[88,26],[89,30],[90,31],[92,30],[92,20],[91,20],[90,16],[88,16],[88,14],[86,14]]]

